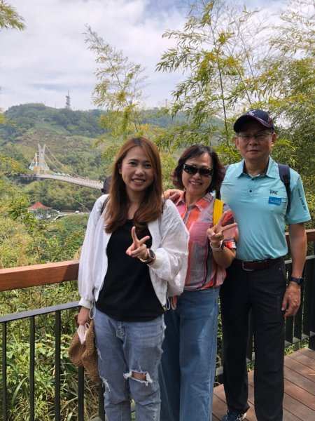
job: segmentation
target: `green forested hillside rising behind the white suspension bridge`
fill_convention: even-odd
[[[96,139],[104,133],[99,126],[101,115],[99,109],[73,111],[43,104],[10,107],[4,113],[5,123],[0,124],[0,153],[16,159],[26,171],[38,143],[45,144],[52,170],[103,180],[102,147],[96,146]],[[154,126],[183,121],[183,115],[172,119],[158,108],[141,112],[141,123]]]

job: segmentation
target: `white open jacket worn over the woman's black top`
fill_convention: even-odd
[[[107,272],[106,247],[111,233],[105,232],[104,218],[101,217],[102,206],[107,196],[104,194],[94,203],[80,255],[79,304],[87,308],[92,307],[92,301],[99,298],[99,291]],[[170,200],[165,201],[161,217],[148,223],[148,230],[152,238],[151,248],[156,256],[155,261],[149,265],[150,277],[155,294],[165,307],[167,295],[179,295],[183,292],[189,234],[176,206]]]

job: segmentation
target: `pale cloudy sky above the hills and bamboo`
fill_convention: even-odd
[[[247,0],[248,8],[272,13],[284,0]],[[25,20],[26,29],[0,32],[0,108],[27,102],[65,105],[69,90],[73,109],[95,108],[94,54],[85,44],[85,25],[130,60],[146,67],[146,105],[160,106],[180,74],[155,72],[172,41],[167,29],[181,29],[187,0],[7,0]]]

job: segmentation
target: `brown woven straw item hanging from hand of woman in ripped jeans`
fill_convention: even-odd
[[[68,354],[74,366],[84,367],[87,375],[93,382],[100,382],[97,369],[97,349],[94,343],[93,320],[85,323],[85,326],[78,326],[78,330],[71,340]]]

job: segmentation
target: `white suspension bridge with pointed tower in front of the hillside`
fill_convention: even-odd
[[[46,149],[48,154],[46,153]],[[48,161],[51,168],[55,168],[52,171],[48,166]],[[59,168],[59,170],[57,170]],[[57,159],[54,154],[50,151],[46,145],[38,144],[38,151],[35,152],[35,156],[29,165],[29,169],[34,172],[34,177],[38,179],[52,179],[63,182],[70,182],[71,184],[91,187],[92,189],[102,189],[103,183],[98,180],[89,180],[88,178],[80,177],[80,175],[70,175],[67,173],[66,166]]]

